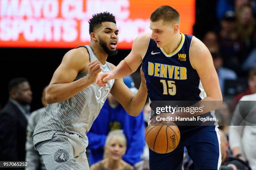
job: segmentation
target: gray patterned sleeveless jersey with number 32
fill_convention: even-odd
[[[97,60],[90,46],[83,47],[87,48],[90,54],[90,62]],[[101,69],[102,72],[111,71],[107,62],[105,65],[101,64]],[[84,74],[79,74],[74,81],[82,79],[87,75],[88,71]],[[81,137],[85,137],[85,134],[91,128],[92,122],[98,116],[100,109],[107,99],[113,84],[114,80],[108,81],[104,87],[97,86],[93,83],[66,101],[48,104],[46,112],[39,119],[33,134],[35,136],[36,134],[45,132],[44,137],[34,138],[33,140],[38,140],[34,141],[34,144],[51,137],[52,130],[62,131],[64,133],[76,133]]]

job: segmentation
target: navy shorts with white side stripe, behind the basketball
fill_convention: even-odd
[[[192,170],[218,170],[221,163],[220,135],[215,126],[180,126],[178,147],[166,154],[149,149],[150,170],[182,170],[184,147],[192,158]]]

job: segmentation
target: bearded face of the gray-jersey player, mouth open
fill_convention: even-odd
[[[103,22],[102,26],[96,33],[98,43],[108,55],[115,55],[118,53],[118,29],[115,23]]]

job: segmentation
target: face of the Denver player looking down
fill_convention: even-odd
[[[164,47],[172,42],[172,37],[175,33],[174,23],[164,20],[158,20],[156,22],[150,21],[149,27],[152,30],[151,39],[154,39],[157,47]]]

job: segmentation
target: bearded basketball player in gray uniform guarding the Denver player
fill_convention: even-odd
[[[89,170],[85,154],[86,133],[111,93],[128,114],[138,115],[146,101],[143,72],[138,93],[115,79],[97,86],[100,72],[115,68],[106,62],[117,53],[118,29],[115,17],[107,12],[93,15],[89,21],[90,46],[68,51],[46,89],[48,106],[33,133],[33,144],[44,159],[47,170]]]

